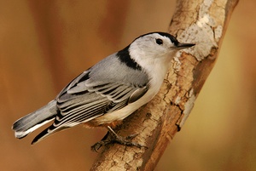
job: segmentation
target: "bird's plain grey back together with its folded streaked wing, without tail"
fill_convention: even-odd
[[[147,74],[131,69],[112,55],[84,71],[61,91],[56,98],[61,112],[54,126],[73,127],[88,122],[125,107],[147,91]]]

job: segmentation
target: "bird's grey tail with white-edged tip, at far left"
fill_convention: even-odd
[[[21,117],[12,127],[15,130],[15,137],[18,139],[26,137],[27,134],[32,133],[32,131],[53,120],[57,112],[56,101],[52,100],[38,111]]]

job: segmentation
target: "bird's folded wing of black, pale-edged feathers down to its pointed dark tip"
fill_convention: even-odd
[[[113,82],[113,80],[91,80],[90,70],[84,71],[69,83],[56,98],[58,112],[55,122],[32,141],[65,128],[117,111],[138,100],[148,91],[144,85]]]

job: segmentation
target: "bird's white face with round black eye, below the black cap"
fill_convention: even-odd
[[[177,52],[175,44],[169,37],[161,36],[158,33],[152,33],[143,37],[138,37],[130,46],[130,54],[137,58],[160,58]]]

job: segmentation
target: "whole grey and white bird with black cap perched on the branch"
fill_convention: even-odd
[[[176,37],[161,31],[137,37],[75,77],[47,105],[17,120],[12,126],[15,137],[22,139],[49,122],[32,144],[79,124],[106,127],[108,133],[119,137],[111,125],[152,100],[177,51],[194,45],[179,43]]]

